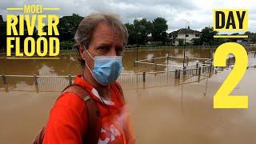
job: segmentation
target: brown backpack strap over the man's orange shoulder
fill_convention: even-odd
[[[72,84],[70,86],[67,86],[63,91],[64,93],[74,93],[78,95],[78,97],[82,98],[86,102],[86,108],[87,108],[87,118],[88,118],[88,125],[86,134],[83,139],[83,143],[92,143],[97,144],[98,138],[101,133],[101,117],[98,110],[98,105],[94,101],[94,98],[90,95],[90,92],[86,90],[83,86],[80,86],[78,84]]]

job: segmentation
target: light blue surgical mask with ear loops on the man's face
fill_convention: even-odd
[[[84,46],[85,50],[86,47]],[[90,55],[89,51],[87,54]],[[115,82],[122,72],[122,56],[95,56],[90,55],[94,59],[94,70],[90,70],[86,63],[87,68],[94,79],[101,85],[106,86],[111,82]]]

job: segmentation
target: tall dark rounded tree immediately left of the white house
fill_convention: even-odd
[[[152,22],[153,27],[151,34],[154,41],[165,41],[167,35],[163,33],[166,33],[166,30],[168,30],[166,22],[165,18],[155,18]]]

